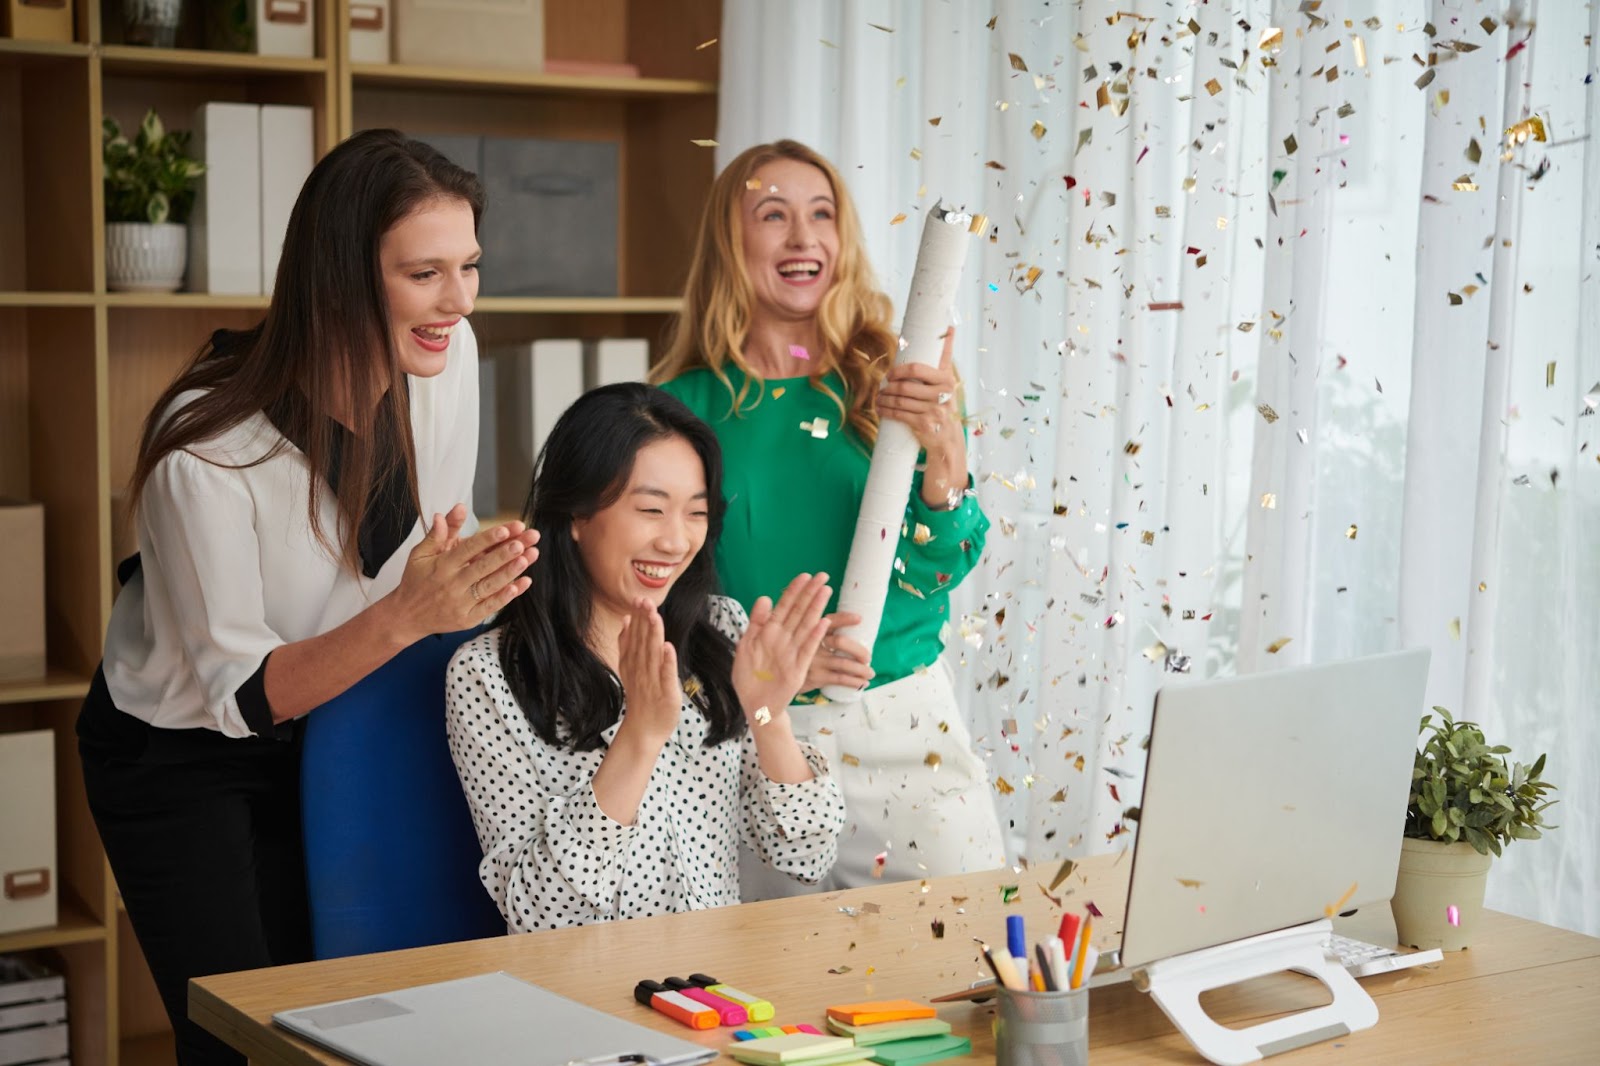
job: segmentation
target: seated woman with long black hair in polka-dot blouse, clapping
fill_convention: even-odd
[[[714,595],[722,451],[659,389],[595,389],[557,421],[523,517],[533,591],[450,664],[446,723],[514,930],[739,901],[739,842],[816,882],[843,802],[789,701],[827,629],[827,575],[746,619]]]

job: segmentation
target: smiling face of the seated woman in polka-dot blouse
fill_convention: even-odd
[[[706,467],[683,437],[638,450],[622,495],[573,520],[595,613],[621,619],[638,597],[658,608],[706,544]]]

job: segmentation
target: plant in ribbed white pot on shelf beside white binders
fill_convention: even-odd
[[[205,165],[189,157],[189,133],[168,131],[154,110],[133,141],[106,117],[106,287],[171,293],[189,264],[189,210]]]

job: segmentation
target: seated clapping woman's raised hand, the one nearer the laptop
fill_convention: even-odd
[[[752,727],[787,714],[805,685],[806,667],[827,632],[822,610],[829,595],[826,573],[803,573],[789,583],[776,607],[763,595],[750,610],[750,624],[733,653],[733,688]]]

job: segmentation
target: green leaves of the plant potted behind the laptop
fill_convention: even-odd
[[[1539,779],[1544,755],[1531,765],[1507,768],[1510,747],[1490,746],[1475,722],[1456,722],[1445,707],[1422,715],[1426,738],[1411,767],[1411,797],[1405,836],[1454,844],[1466,840],[1478,855],[1501,853],[1512,840],[1538,840],[1555,786]]]

